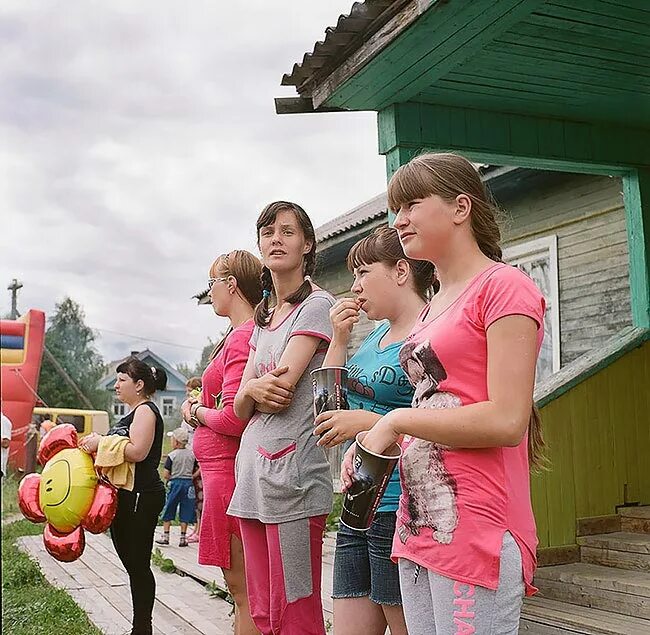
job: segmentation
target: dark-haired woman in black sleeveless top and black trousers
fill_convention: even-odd
[[[129,575],[133,600],[131,635],[151,635],[156,595],[151,550],[158,516],[165,504],[165,488],[158,473],[163,419],[151,397],[157,389],[165,389],[167,375],[161,368],[147,366],[137,357],[122,362],[116,372],[115,394],[129,406],[130,412],[108,434],[129,437],[124,458],[135,463],[135,483],[133,491],[118,490],[111,538]],[[89,435],[79,445],[86,452],[96,452],[99,438],[99,435]]]

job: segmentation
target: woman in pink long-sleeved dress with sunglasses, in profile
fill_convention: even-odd
[[[217,315],[231,328],[212,353],[202,377],[201,400],[182,405],[183,418],[195,427],[193,449],[203,479],[199,563],[221,567],[235,600],[235,633],[254,635],[246,593],[239,521],[226,513],[235,489],[235,456],[246,421],[233,410],[250,351],[253,307],[262,299],[262,264],[247,251],[217,258],[210,268],[209,295]]]

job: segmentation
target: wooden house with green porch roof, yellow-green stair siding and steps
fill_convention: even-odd
[[[557,262],[533,505],[540,563],[564,563],[538,570],[522,632],[650,632],[649,34],[635,0],[368,0],[276,100],[377,112],[388,177],[423,150],[518,168],[509,257]]]

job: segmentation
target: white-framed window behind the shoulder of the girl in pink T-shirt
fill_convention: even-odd
[[[544,342],[537,360],[537,381],[560,370],[560,293],[557,236],[545,236],[503,250],[503,259],[530,276],[546,298]]]

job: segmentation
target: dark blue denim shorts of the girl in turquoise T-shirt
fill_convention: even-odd
[[[332,598],[369,597],[376,604],[399,606],[399,570],[390,559],[395,512],[380,512],[368,531],[341,525],[336,535]]]

